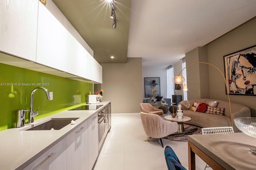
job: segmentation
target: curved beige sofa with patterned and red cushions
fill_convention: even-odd
[[[200,113],[197,111],[192,111],[191,107],[195,101],[199,101],[200,103],[204,103],[206,100],[208,101],[218,101],[218,108],[225,108],[224,115],[215,115],[210,113]],[[232,126],[230,119],[230,109],[228,101],[223,100],[214,100],[214,99],[192,99],[188,100],[190,102],[190,108],[187,109],[182,102],[180,103],[183,110],[183,115],[191,118],[191,121],[186,123],[196,125],[199,127],[224,127],[224,126]],[[242,104],[237,104],[231,102],[231,111],[233,117],[234,124],[234,132],[240,132],[240,130],[236,127],[234,123],[234,119],[237,117],[251,117],[250,108],[246,107]]]

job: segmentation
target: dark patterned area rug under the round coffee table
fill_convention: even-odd
[[[172,141],[178,141],[178,142],[187,142],[188,141],[188,135],[200,135],[202,134],[202,128],[194,125],[188,125],[184,123],[184,133],[173,133],[167,137],[164,137],[163,139],[168,139]]]

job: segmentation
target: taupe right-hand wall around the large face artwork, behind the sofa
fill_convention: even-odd
[[[223,56],[242,49],[256,45],[256,17],[246,23],[240,25],[236,29],[226,33],[218,39],[212,41],[207,45],[208,48],[208,61],[216,64],[224,72]],[[212,69],[210,72],[210,96],[212,98],[220,98],[220,100],[227,99],[225,89],[221,90],[218,86],[220,76],[215,76]],[[256,96],[237,96],[230,95],[232,102],[237,102],[250,107],[253,117],[256,117]]]

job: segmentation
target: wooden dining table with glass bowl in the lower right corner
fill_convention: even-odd
[[[214,170],[256,170],[256,138],[244,133],[188,135],[188,168],[196,169],[195,154]]]

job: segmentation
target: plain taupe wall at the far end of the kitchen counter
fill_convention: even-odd
[[[104,101],[111,101],[112,113],[139,113],[142,103],[142,58],[127,63],[102,63]]]

